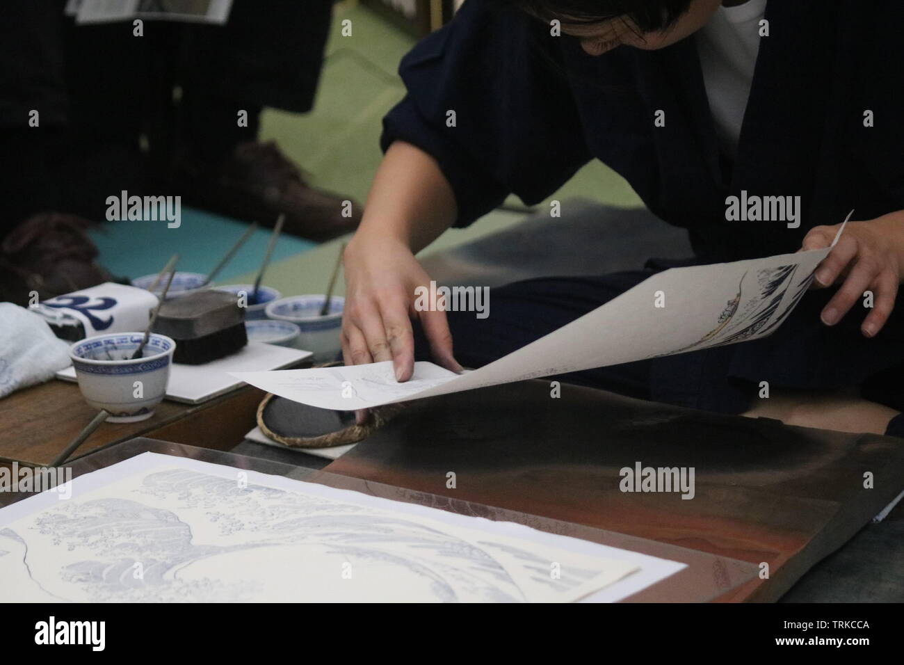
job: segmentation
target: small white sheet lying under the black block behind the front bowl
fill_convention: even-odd
[[[169,384],[166,385],[166,399],[183,404],[201,404],[218,395],[226,394],[241,384],[241,381],[231,374],[232,371],[261,367],[278,369],[294,365],[310,355],[310,351],[301,351],[297,348],[249,342],[239,352],[204,365],[174,363],[170,368]],[[61,369],[56,376],[63,381],[75,381],[75,368],[69,366]]]

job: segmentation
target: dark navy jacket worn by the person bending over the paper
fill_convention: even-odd
[[[457,225],[510,193],[538,203],[594,157],[709,260],[794,252],[807,229],[852,209],[854,219],[904,209],[899,0],[769,2],[735,163],[720,154],[693,36],[592,57],[496,5],[467,0],[405,56],[408,94],[383,121],[384,149],[403,139],[438,160]],[[725,199],[741,190],[801,196],[800,228],[726,221]]]

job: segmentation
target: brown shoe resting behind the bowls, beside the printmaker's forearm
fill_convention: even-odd
[[[358,204],[306,185],[300,169],[272,141],[240,143],[215,167],[179,159],[174,177],[187,204],[265,226],[285,214],[286,233],[308,240],[331,240],[361,222]]]

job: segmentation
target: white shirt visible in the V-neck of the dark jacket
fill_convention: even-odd
[[[722,151],[738,153],[744,110],[750,96],[759,53],[759,22],[767,0],[720,7],[697,33],[697,50],[710,100],[710,111]]]

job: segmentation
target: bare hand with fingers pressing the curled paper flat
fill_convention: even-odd
[[[452,355],[446,312],[416,311],[415,289],[430,278],[410,248],[388,235],[357,233],[345,248],[345,307],[342,351],[345,365],[391,360],[396,379],[414,371],[411,318],[418,318],[438,364],[461,371]]]

